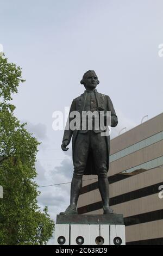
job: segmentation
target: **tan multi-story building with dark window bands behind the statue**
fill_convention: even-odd
[[[97,176],[83,180],[79,214],[103,214]],[[108,180],[127,245],[163,245],[163,113],[111,140]]]

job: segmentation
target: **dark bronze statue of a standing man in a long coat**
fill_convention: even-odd
[[[73,100],[70,113],[72,111],[110,111],[111,126],[118,123],[117,115],[108,95],[98,93],[96,90],[99,84],[98,77],[93,70],[85,72],[81,84],[84,84],[85,92]],[[69,124],[72,118],[69,118]],[[95,128],[95,127],[94,127]],[[107,173],[109,170],[109,151],[110,136],[101,136],[103,132],[99,127],[98,130],[65,130],[62,139],[61,148],[67,151],[67,145],[72,137],[73,165],[74,173],[71,182],[71,198],[70,205],[65,212],[60,214],[70,215],[78,214],[77,202],[82,188],[82,176],[97,174],[98,187],[101,193],[104,214],[112,214],[113,210],[109,206],[109,182]]]

